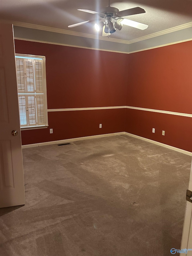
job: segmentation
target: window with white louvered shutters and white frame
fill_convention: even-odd
[[[45,56],[15,58],[21,129],[47,127]]]

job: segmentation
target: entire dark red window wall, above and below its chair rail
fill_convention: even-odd
[[[22,40],[15,52],[46,57],[48,109],[126,105],[126,54]],[[22,145],[125,131],[125,109],[48,112],[48,122],[22,131]]]

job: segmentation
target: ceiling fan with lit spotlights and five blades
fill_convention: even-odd
[[[130,26],[130,27],[137,28],[137,29],[142,29],[142,30],[148,28],[148,25],[146,25],[146,24],[122,18],[122,17],[129,16],[129,15],[145,13],[146,11],[140,7],[135,7],[135,8],[119,11],[119,9],[110,6],[110,0],[109,0],[108,7],[104,8],[101,12],[91,11],[91,10],[87,10],[87,9],[78,9],[78,11],[84,11],[84,12],[88,12],[91,14],[97,14],[100,18],[95,19],[95,20],[87,20],[87,21],[83,21],[80,23],[76,23],[76,24],[68,26],[68,28],[73,28],[73,27],[80,26],[80,25],[83,25],[86,23],[95,22],[95,29],[97,31],[99,31],[101,28],[103,28],[103,36],[108,36],[109,33],[112,34],[112,33],[116,32],[116,29],[121,30],[123,27],[123,24]]]

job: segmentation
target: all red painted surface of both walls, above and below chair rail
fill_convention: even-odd
[[[15,49],[46,56],[48,109],[127,105],[192,113],[192,41],[129,55],[21,40]],[[190,117],[110,109],[48,112],[48,119],[48,129],[22,131],[22,144],[126,131],[192,151]]]

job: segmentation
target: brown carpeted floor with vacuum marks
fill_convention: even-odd
[[[26,205],[0,209],[1,256],[167,256],[191,157],[126,135],[23,149]]]

